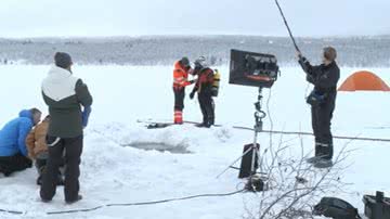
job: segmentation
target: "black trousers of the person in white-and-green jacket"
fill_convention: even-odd
[[[76,138],[60,139],[48,137],[49,159],[42,176],[42,185],[40,196],[42,199],[50,201],[55,195],[56,180],[60,166],[63,164],[63,153],[65,150],[65,201],[73,202],[77,199],[80,185],[80,163],[82,153],[82,136]]]

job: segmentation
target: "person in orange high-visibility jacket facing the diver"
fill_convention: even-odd
[[[173,93],[174,93],[174,124],[183,124],[183,108],[185,98],[185,87],[194,83],[194,80],[188,80],[188,74],[193,69],[187,57],[182,57],[174,63],[173,69]]]

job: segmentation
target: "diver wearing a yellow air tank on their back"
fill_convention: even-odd
[[[198,76],[190,99],[194,99],[195,93],[198,94],[200,111],[203,114],[203,123],[197,127],[210,128],[214,125],[214,103],[212,100],[212,85],[214,81],[213,70],[208,67],[206,59],[200,56],[195,61],[194,74]]]

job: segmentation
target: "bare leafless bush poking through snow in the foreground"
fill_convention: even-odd
[[[263,151],[260,164],[262,177],[268,180],[268,190],[258,195],[259,205],[248,209],[250,219],[308,219],[314,218],[314,206],[324,194],[343,192],[346,183],[340,176],[346,170],[344,159],[351,151],[347,145],[334,160],[334,166],[317,169],[307,164],[309,154],[304,154],[302,139],[300,156],[286,156],[290,145],[283,142],[276,149]]]

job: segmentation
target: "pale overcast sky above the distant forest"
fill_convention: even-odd
[[[280,0],[297,36],[390,34],[390,0]],[[274,0],[1,0],[0,37],[287,36]]]

